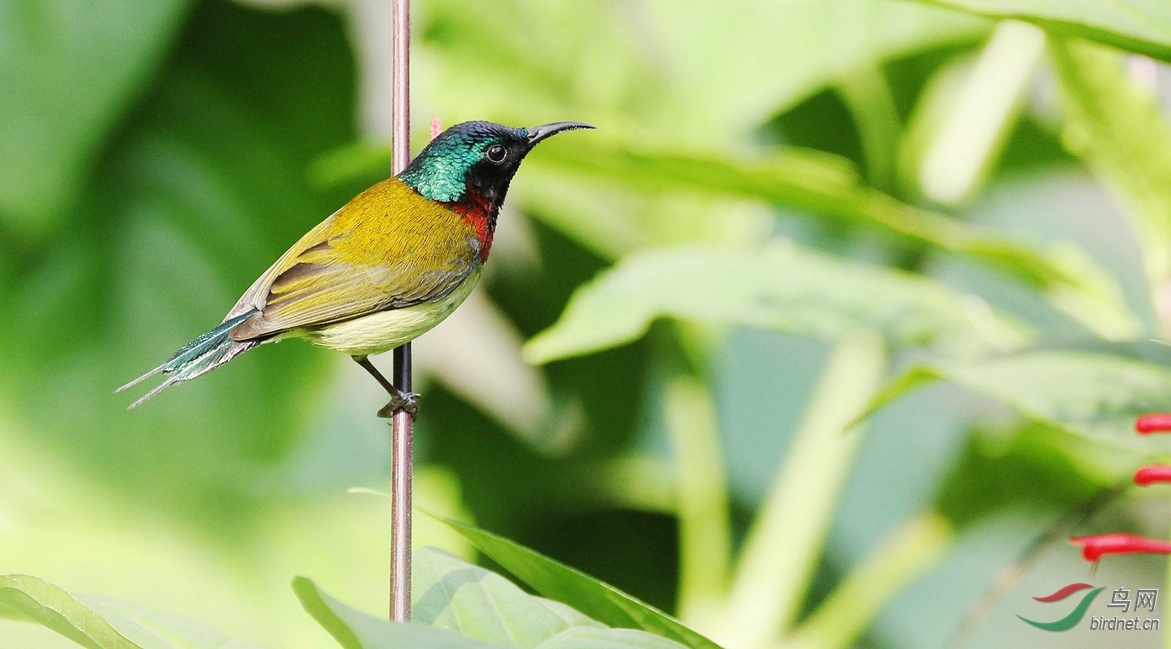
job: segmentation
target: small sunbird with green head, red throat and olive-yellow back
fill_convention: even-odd
[[[157,388],[191,381],[265,342],[302,337],[349,354],[385,388],[378,411],[418,412],[368,356],[415,340],[475,287],[492,250],[508,183],[533,148],[553,135],[593,129],[554,122],[513,129],[464,122],[447,129],[397,177],[359,193],[293,245],[244,293],[220,326],[162,366]]]

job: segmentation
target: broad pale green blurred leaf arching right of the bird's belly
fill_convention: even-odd
[[[561,319],[525,347],[549,362],[630,342],[659,316],[834,340],[874,329],[896,347],[1015,349],[1028,330],[977,298],[900,271],[773,245],[649,251],[580,287]]]

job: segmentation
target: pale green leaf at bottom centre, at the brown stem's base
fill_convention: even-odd
[[[344,649],[396,647],[484,649],[682,649],[634,629],[611,629],[568,606],[529,595],[505,578],[440,549],[415,553],[411,623],[357,612],[297,578],[293,588],[306,610]]]

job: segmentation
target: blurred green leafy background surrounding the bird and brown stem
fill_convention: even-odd
[[[463,558],[420,549],[419,621],[464,640],[333,600],[385,608],[385,503],[345,493],[389,478],[377,387],[290,343],[112,389],[385,177],[388,8],[0,0],[0,572],[290,649],[938,645],[993,578],[956,566],[1165,458],[1130,432],[1171,410],[1163,2],[416,0],[417,125],[600,127],[526,162],[458,353],[420,341],[417,500],[631,595],[418,517]],[[226,642],[19,575],[0,616]]]

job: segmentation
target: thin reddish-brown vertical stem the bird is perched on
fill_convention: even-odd
[[[398,175],[411,162],[411,2],[392,0],[393,33],[393,122],[391,129],[391,173]],[[413,388],[411,343],[395,349],[392,382],[404,392]],[[390,619],[411,620],[411,416],[399,410],[391,419],[390,490]]]

